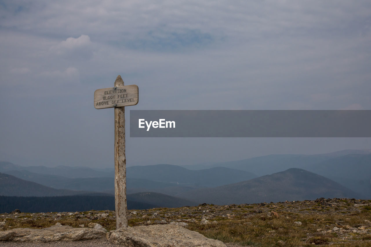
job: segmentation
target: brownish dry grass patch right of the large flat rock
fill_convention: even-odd
[[[301,215],[289,212],[280,212],[280,214],[279,218],[254,215],[222,220],[216,225],[191,223],[187,228],[209,238],[250,246],[312,246],[312,243],[316,246],[328,246],[330,243],[331,246],[371,246],[369,235],[351,234],[344,238],[338,236],[336,232],[325,232],[339,222],[342,225],[357,227],[365,219],[370,219],[371,215],[368,211],[352,215]],[[298,226],[294,221],[301,221],[302,225]],[[321,230],[317,231],[317,229]],[[280,240],[283,244],[279,242]]]

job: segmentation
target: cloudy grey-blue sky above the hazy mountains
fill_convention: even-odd
[[[0,0],[0,160],[114,167],[114,109],[371,110],[371,2]],[[371,138],[130,138],[127,165],[370,149]]]

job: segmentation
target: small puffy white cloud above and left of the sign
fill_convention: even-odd
[[[50,52],[73,59],[89,59],[93,55],[93,47],[90,37],[82,34],[78,38],[69,37],[52,46]]]

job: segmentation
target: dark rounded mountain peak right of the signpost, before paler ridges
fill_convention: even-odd
[[[216,188],[204,188],[178,194],[198,203],[217,205],[258,202],[303,201],[316,198],[360,198],[357,192],[328,178],[303,169],[291,168],[272,175]]]

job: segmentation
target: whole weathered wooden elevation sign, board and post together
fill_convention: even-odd
[[[97,89],[94,92],[96,109],[115,108],[115,211],[116,229],[128,227],[126,201],[126,157],[125,157],[125,106],[137,105],[138,86],[124,86],[118,75],[113,88]]]

